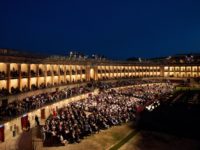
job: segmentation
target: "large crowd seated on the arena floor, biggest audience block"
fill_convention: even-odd
[[[163,94],[172,91],[173,85],[169,83],[122,89],[106,87],[96,96],[90,95],[85,100],[70,103],[53,113],[42,128],[44,142],[79,143],[88,135],[134,120],[138,107],[159,100]]]

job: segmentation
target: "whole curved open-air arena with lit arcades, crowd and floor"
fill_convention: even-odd
[[[0,50],[0,149],[200,149],[200,56],[148,61]]]

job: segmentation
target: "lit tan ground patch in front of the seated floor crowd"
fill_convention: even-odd
[[[132,132],[133,123],[127,123],[121,126],[115,126],[107,130],[101,130],[81,140],[80,143],[66,144],[59,147],[43,147],[41,142],[36,142],[36,150],[103,150],[110,149]]]

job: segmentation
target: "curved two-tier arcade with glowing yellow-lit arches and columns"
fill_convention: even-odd
[[[90,80],[134,77],[198,78],[200,64],[0,56],[1,96]]]

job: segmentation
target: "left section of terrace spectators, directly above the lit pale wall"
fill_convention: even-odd
[[[44,105],[72,97],[74,95],[83,94],[91,91],[88,86],[66,88],[55,92],[43,93],[27,97],[21,101],[14,101],[7,106],[0,107],[0,116],[3,118],[13,118],[22,115],[31,110],[40,108]],[[1,118],[1,119],[3,119]]]

